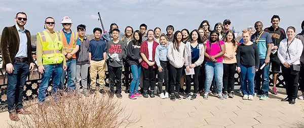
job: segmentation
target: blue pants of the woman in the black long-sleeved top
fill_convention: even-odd
[[[241,68],[241,86],[243,88],[244,94],[251,94],[254,96],[254,75],[255,75],[255,67],[254,66],[246,66],[240,65]],[[247,85],[248,84],[248,85]]]

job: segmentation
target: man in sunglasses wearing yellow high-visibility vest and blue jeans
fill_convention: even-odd
[[[54,31],[55,20],[47,17],[45,20],[46,30],[37,33],[36,54],[38,71],[41,73],[41,83],[38,92],[38,105],[41,107],[46,99],[49,82],[52,78],[52,94],[56,93],[60,86],[62,70],[66,70],[63,45],[60,34]]]

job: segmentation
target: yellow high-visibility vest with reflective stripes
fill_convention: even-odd
[[[60,39],[60,34],[56,33],[56,39],[53,41],[46,30],[37,33],[40,37],[40,41],[43,48],[43,65],[53,65],[62,63],[64,55],[61,53],[62,42]]]

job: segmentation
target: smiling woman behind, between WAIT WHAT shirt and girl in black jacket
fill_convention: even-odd
[[[131,26],[127,26],[125,29],[125,36],[121,39],[121,41],[124,42],[126,45],[126,48],[128,48],[129,42],[133,39],[133,28]],[[130,65],[129,65],[129,55],[126,59],[124,59],[124,69],[125,69],[125,83],[126,86],[125,93],[129,93],[129,83],[130,83]]]

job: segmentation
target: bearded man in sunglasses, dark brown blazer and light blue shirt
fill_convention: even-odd
[[[18,12],[16,25],[5,27],[1,37],[2,68],[8,73],[7,103],[10,119],[18,121],[17,114],[30,114],[23,109],[23,87],[30,71],[34,68],[31,56],[30,33],[24,28],[27,21],[24,12]]]

